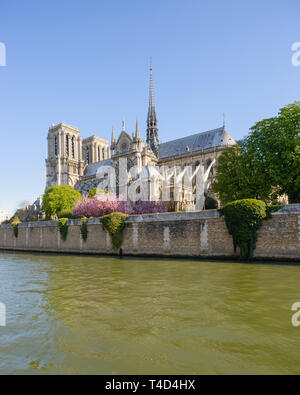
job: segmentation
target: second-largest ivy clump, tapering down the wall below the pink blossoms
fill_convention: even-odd
[[[126,227],[128,215],[123,213],[111,213],[100,218],[103,228],[108,231],[112,239],[114,251],[118,251],[123,243],[123,231]]]

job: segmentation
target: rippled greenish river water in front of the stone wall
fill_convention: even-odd
[[[300,373],[300,266],[0,253],[0,374]]]

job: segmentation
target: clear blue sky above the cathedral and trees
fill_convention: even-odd
[[[299,0],[1,0],[0,208],[43,193],[52,122],[110,139],[138,117],[145,135],[150,56],[161,141],[224,112],[245,136],[300,99],[299,17]]]

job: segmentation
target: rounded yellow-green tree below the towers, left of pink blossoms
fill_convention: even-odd
[[[81,199],[80,192],[68,185],[57,185],[46,189],[42,209],[46,219],[57,217],[62,210],[70,210]]]

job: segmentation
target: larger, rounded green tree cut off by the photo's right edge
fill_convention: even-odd
[[[300,202],[300,102],[279,111],[251,128],[245,149],[257,171],[268,176],[277,194]]]

